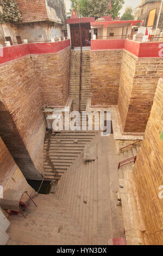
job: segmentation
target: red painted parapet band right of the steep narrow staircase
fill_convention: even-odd
[[[91,40],[91,51],[124,49],[139,58],[162,58],[163,42],[137,42],[129,39]]]

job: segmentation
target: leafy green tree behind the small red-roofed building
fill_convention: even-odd
[[[77,10],[78,15],[82,17],[102,17],[111,14],[113,19],[119,15],[119,11],[124,4],[124,0],[111,0],[110,10],[110,0],[71,0],[71,2],[72,7]]]

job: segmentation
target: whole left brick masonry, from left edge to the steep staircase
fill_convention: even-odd
[[[56,45],[60,47],[62,42]],[[23,53],[26,56],[0,66],[0,135],[26,178],[42,179],[46,127],[42,106],[66,105],[70,47],[57,53]]]

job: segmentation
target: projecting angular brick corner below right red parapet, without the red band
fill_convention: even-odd
[[[123,52],[118,109],[124,132],[145,131],[162,71],[162,58],[136,58]]]

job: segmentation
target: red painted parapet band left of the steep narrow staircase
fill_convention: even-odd
[[[28,54],[57,53],[68,46],[70,46],[70,39],[60,42],[36,42],[0,48],[0,64],[21,58]]]

